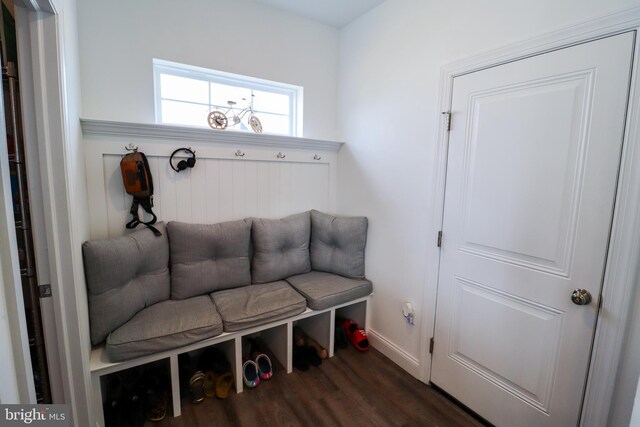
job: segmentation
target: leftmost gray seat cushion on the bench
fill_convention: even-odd
[[[112,362],[182,347],[222,333],[222,320],[209,295],[167,300],[147,307],[107,338]]]

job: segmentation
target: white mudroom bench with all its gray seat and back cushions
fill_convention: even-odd
[[[318,211],[219,224],[158,223],[83,244],[98,426],[104,378],[168,363],[173,416],[181,414],[183,353],[215,346],[243,391],[244,337],[256,337],[293,370],[294,326],[334,354],[335,319],[367,327],[368,221]]]

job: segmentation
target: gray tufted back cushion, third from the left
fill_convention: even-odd
[[[274,282],[311,271],[309,260],[309,212],[282,219],[254,218],[253,283]]]

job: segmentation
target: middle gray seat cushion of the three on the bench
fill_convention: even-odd
[[[283,280],[211,294],[226,332],[239,331],[302,313],[306,301]]]

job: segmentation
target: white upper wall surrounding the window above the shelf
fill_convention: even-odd
[[[303,136],[337,136],[334,28],[247,0],[83,0],[78,13],[84,118],[154,123],[160,58],[303,86]]]

